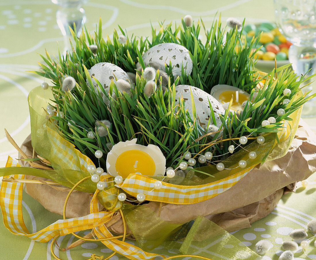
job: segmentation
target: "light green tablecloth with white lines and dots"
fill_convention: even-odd
[[[222,20],[228,17],[243,19],[248,22],[271,21],[273,17],[272,0],[91,0],[85,6],[87,26],[90,30],[102,17],[103,33],[111,34],[118,29],[119,24],[126,28],[128,33],[146,36],[150,32],[150,21],[154,26],[157,21],[180,21],[180,18],[191,14],[193,18],[202,18],[207,27],[217,11],[222,13]],[[57,54],[59,41],[63,48],[63,38],[56,24],[55,13],[57,6],[50,0],[0,0],[0,166],[5,165],[8,155],[17,157],[15,149],[6,141],[3,128],[6,128],[18,145],[30,133],[30,119],[28,113],[27,95],[35,86],[40,85],[43,79],[25,72],[38,69],[37,53],[44,53],[45,48],[53,55]],[[315,130],[315,118],[305,121]],[[310,177],[313,181],[316,175]],[[23,213],[27,227],[35,232],[46,227],[60,218],[44,209],[37,201],[23,194]],[[262,258],[266,260],[278,259],[282,253],[280,244],[289,239],[292,229],[304,228],[307,223],[316,218],[316,184],[311,183],[307,188],[300,188],[293,194],[284,195],[274,211],[260,221],[235,232],[241,245],[254,250],[254,245],[261,239],[269,239],[273,247]],[[70,245],[73,236],[61,237],[58,244]],[[313,240],[312,240],[313,241]],[[134,243],[131,241],[131,243]],[[210,248],[204,250],[212,251]],[[227,245],[232,247],[232,245]],[[168,254],[164,249],[160,253]],[[62,259],[87,259],[92,253],[109,255],[110,251],[102,244],[84,243],[72,251],[62,252],[55,248],[57,256]],[[198,253],[198,249],[197,252]],[[305,253],[295,254],[295,259],[307,259],[307,256],[316,259],[315,247],[310,247]],[[121,257],[115,255],[111,260]],[[0,223],[0,260],[23,259],[39,260],[53,259],[50,253],[50,243],[42,244],[28,238],[15,236]],[[261,258],[260,258],[261,259]]]

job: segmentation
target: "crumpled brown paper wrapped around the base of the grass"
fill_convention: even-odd
[[[29,155],[33,153],[30,137],[21,148]],[[295,183],[308,178],[315,171],[316,135],[300,120],[295,138],[285,156],[256,166],[229,190],[207,201],[190,205],[149,202],[140,207],[149,207],[161,219],[172,223],[186,223],[199,215],[205,216],[232,232],[250,227],[254,221],[270,214],[284,192],[295,191]],[[54,190],[45,184],[27,184],[26,191],[46,209],[62,215],[67,192]],[[67,204],[67,216],[89,214],[90,200],[87,193],[73,193]],[[123,233],[122,220],[113,224],[111,229]],[[127,233],[130,233],[129,229]]]

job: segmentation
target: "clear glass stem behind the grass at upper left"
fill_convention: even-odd
[[[59,6],[56,12],[56,21],[62,34],[64,35],[64,54],[70,50],[69,38],[71,37],[69,27],[74,29],[76,25],[77,35],[81,33],[81,28],[86,21],[85,11],[82,5],[88,0],[52,0]]]

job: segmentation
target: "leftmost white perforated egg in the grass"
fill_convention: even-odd
[[[103,88],[106,90],[106,92],[109,92],[110,89],[110,84],[111,81],[113,81],[114,83],[116,83],[115,77],[114,75],[117,77],[117,79],[124,79],[129,81],[130,78],[127,75],[127,73],[122,70],[120,67],[112,64],[112,63],[108,63],[108,62],[100,62],[95,64],[94,66],[91,67],[90,70],[88,70],[89,75],[91,77],[91,81],[94,87],[95,92],[98,92],[98,84],[95,82],[94,78],[95,77],[103,86]],[[113,75],[114,74],[114,75]],[[88,85],[88,80],[87,80],[87,85]],[[100,90],[100,89],[99,89]],[[102,91],[100,90],[100,92],[102,93]]]

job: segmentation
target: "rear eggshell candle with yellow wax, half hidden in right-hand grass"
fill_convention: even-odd
[[[211,94],[224,107],[228,106],[233,97],[233,103],[230,109],[236,112],[244,110],[245,102],[250,97],[246,91],[229,85],[216,85],[212,88]]]

